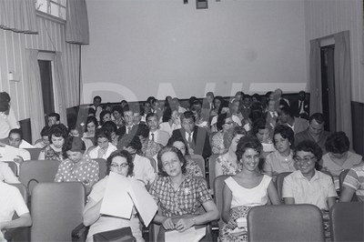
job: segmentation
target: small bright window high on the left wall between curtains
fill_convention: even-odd
[[[66,20],[66,0],[35,0],[35,9]]]

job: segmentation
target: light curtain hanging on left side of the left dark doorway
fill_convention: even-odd
[[[43,108],[42,84],[38,66],[38,51],[25,49],[25,88],[28,94],[27,109],[29,110],[30,126],[32,129],[32,142],[40,136],[45,126],[45,111]]]

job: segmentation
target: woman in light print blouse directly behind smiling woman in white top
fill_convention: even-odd
[[[247,131],[242,126],[236,126],[232,131],[232,135],[224,136],[224,143],[228,147],[228,150],[227,153],[217,157],[215,164],[216,177],[221,175],[236,175],[241,170],[236,152],[238,141],[246,135]]]

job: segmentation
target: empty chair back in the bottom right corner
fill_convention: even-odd
[[[330,217],[332,241],[364,241],[364,203],[337,203]]]

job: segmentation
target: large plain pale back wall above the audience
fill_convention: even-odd
[[[90,103],[305,89],[303,0],[87,0],[83,99]],[[98,91],[96,91],[98,90]]]

